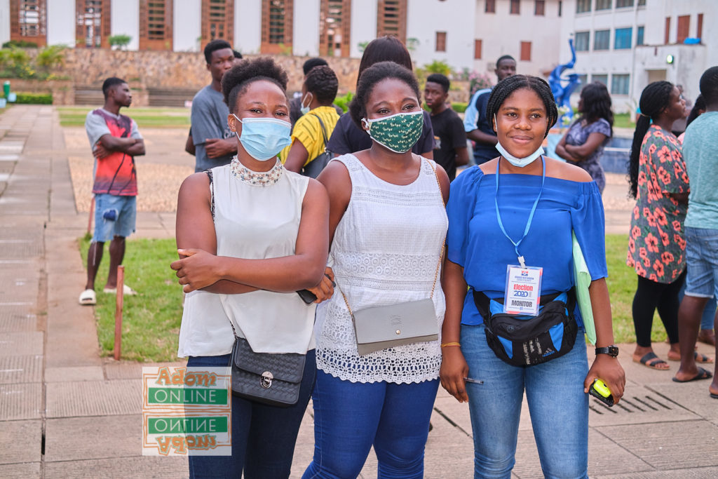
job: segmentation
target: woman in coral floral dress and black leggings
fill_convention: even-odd
[[[638,274],[633,361],[667,370],[668,363],[651,348],[651,325],[658,309],[671,343],[668,358],[679,359],[678,294],[686,276],[683,222],[689,185],[681,144],[671,125],[683,115],[684,100],[673,84],[658,81],[643,90],[639,104],[629,162],[630,195],[636,203],[626,260]]]

